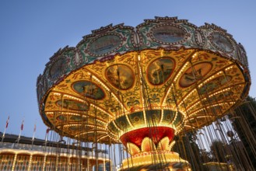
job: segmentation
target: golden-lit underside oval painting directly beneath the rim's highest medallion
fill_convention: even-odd
[[[174,71],[174,60],[171,58],[160,58],[153,61],[147,68],[147,78],[153,85],[161,85],[170,78]]]

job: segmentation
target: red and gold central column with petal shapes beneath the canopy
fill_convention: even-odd
[[[131,155],[122,162],[126,170],[191,170],[188,161],[171,152],[175,130],[172,127],[143,127],[122,134],[121,142]]]

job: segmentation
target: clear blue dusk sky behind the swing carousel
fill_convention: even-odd
[[[110,23],[137,26],[155,16],[177,16],[196,26],[215,23],[244,45],[251,70],[250,95],[256,97],[256,2],[247,1],[0,1],[0,131],[44,138],[37,107],[37,76],[59,48],[75,47],[82,37]]]

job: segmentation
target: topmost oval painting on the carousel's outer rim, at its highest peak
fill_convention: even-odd
[[[162,25],[153,29],[153,37],[167,44],[174,44],[184,40],[185,34],[185,31],[178,26]]]

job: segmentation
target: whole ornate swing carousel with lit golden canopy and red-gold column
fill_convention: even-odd
[[[251,85],[246,52],[214,24],[177,17],[93,30],[56,52],[37,79],[47,127],[79,141],[122,144],[121,169],[190,169],[174,137],[230,113]]]

